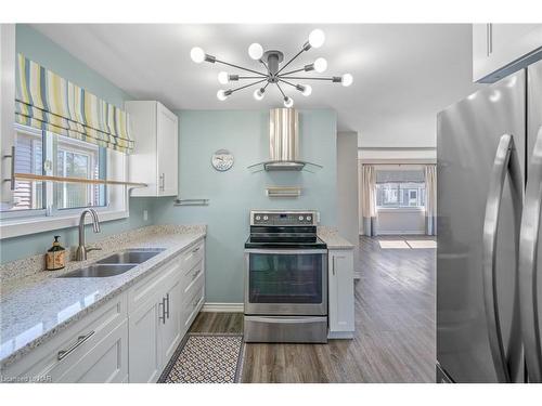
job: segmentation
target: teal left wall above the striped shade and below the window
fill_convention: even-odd
[[[95,70],[90,69],[81,61],[70,55],[64,49],[47,37],[43,37],[31,27],[25,24],[17,24],[15,35],[16,52],[23,53],[28,58],[74,81],[74,83],[77,83],[81,88],[88,89],[99,97],[119,107],[122,107],[125,100],[131,99],[122,90],[100,76]],[[103,238],[108,234],[152,224],[151,209],[153,200],[153,198],[131,198],[130,218],[103,223],[100,234],[93,234],[90,227],[88,227],[88,241]],[[143,222],[144,209],[150,211],[146,222]],[[53,235],[60,235],[61,241],[65,246],[77,245],[77,228],[75,227],[7,238],[2,239],[0,244],[1,263],[44,252],[51,246]]]

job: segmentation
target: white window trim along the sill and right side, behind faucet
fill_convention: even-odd
[[[107,154],[107,178],[124,180],[128,178],[128,159],[125,154],[111,150]],[[109,206],[95,207],[100,222],[127,219],[129,210],[129,189],[127,186],[111,186]],[[0,239],[18,237],[29,234],[50,232],[53,230],[75,227],[79,225],[81,209],[66,210],[61,215],[13,217],[0,220]],[[87,217],[85,224],[90,224]]]

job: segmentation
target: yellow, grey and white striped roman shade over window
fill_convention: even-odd
[[[17,54],[15,120],[124,153],[133,149],[128,115]]]

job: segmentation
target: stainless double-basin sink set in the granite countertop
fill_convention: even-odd
[[[107,277],[124,274],[132,267],[149,261],[158,253],[165,251],[165,248],[131,248],[103,260],[96,261],[93,264],[83,266],[79,270],[69,272],[59,277],[62,278],[88,278],[88,277]]]

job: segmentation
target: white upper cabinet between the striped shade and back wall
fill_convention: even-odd
[[[179,176],[179,120],[154,101],[125,103],[136,148],[129,157],[129,179],[149,187],[134,188],[132,196],[177,196]]]

